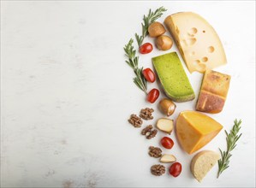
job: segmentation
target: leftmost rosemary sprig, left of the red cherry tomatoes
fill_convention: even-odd
[[[143,68],[138,68],[139,56],[136,56],[136,50],[134,50],[133,43],[134,40],[131,38],[128,44],[126,44],[123,48],[125,55],[128,57],[128,61],[125,62],[127,62],[127,64],[134,69],[134,73],[136,74],[136,77],[134,78],[135,85],[146,93],[146,79],[142,73]]]

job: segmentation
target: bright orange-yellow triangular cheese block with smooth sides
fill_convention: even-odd
[[[176,135],[182,149],[192,154],[208,144],[223,126],[196,111],[183,111],[176,120]]]

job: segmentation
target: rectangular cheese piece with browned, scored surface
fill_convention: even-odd
[[[221,112],[229,91],[229,82],[229,75],[206,70],[196,110],[212,114]]]

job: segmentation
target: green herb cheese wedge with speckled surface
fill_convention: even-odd
[[[193,88],[176,52],[153,57],[152,62],[167,97],[175,102],[193,100]]]

